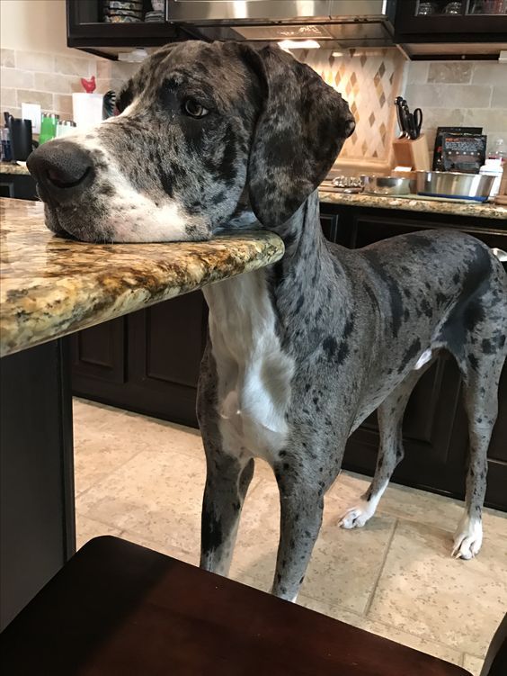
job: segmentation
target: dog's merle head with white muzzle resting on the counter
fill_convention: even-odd
[[[86,241],[209,239],[243,211],[274,228],[354,128],[342,96],[311,68],[231,42],[157,51],[118,107],[118,117],[31,154],[50,230]]]

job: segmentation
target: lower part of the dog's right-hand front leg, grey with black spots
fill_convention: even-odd
[[[322,524],[324,487],[276,472],[280,491],[280,545],[272,593],[295,601]]]

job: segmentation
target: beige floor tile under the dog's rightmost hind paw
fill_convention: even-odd
[[[399,521],[369,619],[481,655],[507,607],[507,541],[486,536],[471,561],[449,556],[449,534]]]

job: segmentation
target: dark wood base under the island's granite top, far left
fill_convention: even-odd
[[[76,552],[67,338],[0,362],[0,631]]]

